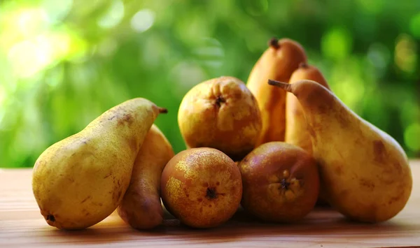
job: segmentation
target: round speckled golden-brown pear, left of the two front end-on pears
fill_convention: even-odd
[[[176,154],[165,166],[161,184],[165,208],[194,228],[224,224],[241,202],[239,168],[214,148],[191,148]]]

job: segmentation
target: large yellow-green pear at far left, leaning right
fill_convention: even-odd
[[[147,99],[125,101],[38,157],[32,190],[50,226],[82,229],[109,216],[132,175],[137,153],[160,112]]]

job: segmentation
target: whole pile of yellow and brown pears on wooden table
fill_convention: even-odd
[[[402,147],[340,101],[290,38],[269,40],[246,83],[221,76],[186,93],[178,154],[154,123],[165,112],[130,99],[45,149],[32,177],[45,221],[82,229],[116,211],[151,229],[166,209],[210,228],[239,209],[293,223],[328,205],[377,223],[395,217],[412,191]]]

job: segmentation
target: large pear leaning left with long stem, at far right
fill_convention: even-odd
[[[302,105],[328,203],[349,219],[386,221],[406,205],[412,172],[404,150],[388,133],[362,119],[335,94],[312,80],[289,85]]]

